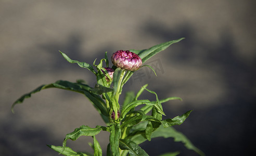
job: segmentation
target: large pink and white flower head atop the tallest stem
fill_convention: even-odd
[[[117,68],[135,71],[142,66],[142,59],[129,50],[118,50],[111,56],[112,63]]]

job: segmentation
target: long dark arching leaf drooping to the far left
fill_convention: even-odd
[[[107,117],[108,111],[107,111],[105,101],[99,95],[92,93],[90,91],[90,89],[92,89],[91,87],[89,87],[86,84],[82,84],[82,83],[72,83],[69,81],[62,81],[62,80],[59,80],[59,81],[56,81],[55,83],[51,83],[51,84],[47,84],[47,85],[41,85],[40,87],[32,90],[32,92],[30,92],[28,94],[24,94],[23,96],[21,96],[18,100],[16,100],[12,104],[11,111],[14,112],[14,110],[13,110],[14,107],[18,103],[22,103],[24,101],[24,99],[30,98],[32,94],[35,94],[35,93],[40,92],[41,90],[47,89],[47,88],[65,89],[65,90],[70,90],[70,91],[81,93],[81,94],[85,95],[93,103],[93,106],[100,113],[101,118],[103,118],[105,123],[109,122],[108,117]]]

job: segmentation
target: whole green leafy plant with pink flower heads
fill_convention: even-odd
[[[101,59],[99,64],[95,64],[96,60],[94,61],[93,66],[96,70],[92,65],[72,60],[60,51],[61,55],[68,62],[77,63],[80,67],[87,68],[95,74],[97,79],[95,87],[90,87],[80,80],[74,83],[60,80],[52,84],[42,85],[32,90],[32,92],[21,96],[14,102],[11,110],[13,111],[14,106],[18,103],[22,103],[25,98],[31,97],[32,94],[40,92],[42,89],[66,89],[85,95],[92,102],[106,125],[96,126],[95,128],[82,125],[66,135],[62,146],[47,145],[63,155],[86,155],[85,153],[75,152],[71,148],[66,147],[67,140],[76,140],[80,136],[92,136],[94,144],[91,146],[94,149],[94,155],[102,155],[101,147],[95,137],[101,131],[110,133],[107,155],[148,155],[138,145],[146,140],[150,141],[152,138],[156,137],[174,138],[174,141],[182,141],[187,149],[194,150],[198,154],[204,155],[203,152],[196,148],[185,135],[177,132],[172,127],[173,125],[182,124],[191,111],[187,111],[172,119],[162,120],[162,115],[165,115],[162,109],[162,103],[175,99],[182,100],[180,97],[168,97],[160,100],[155,92],[146,88],[148,86],[146,84],[140,88],[137,94],[134,92],[127,92],[124,102],[122,103],[122,108],[120,108],[119,103],[119,96],[122,93],[122,88],[133,73],[144,66],[152,69],[148,65],[142,66],[142,63],[160,51],[168,48],[170,45],[180,42],[183,39],[184,38],[180,38],[178,40],[165,42],[144,50],[118,50],[111,57],[113,64],[116,65],[112,68],[109,68],[106,52],[105,58]],[[105,68],[103,67],[104,61],[106,62]],[[138,97],[145,90],[155,95],[156,100],[139,100]],[[144,106],[140,109],[135,109],[139,105]],[[178,153],[179,152],[172,152],[164,155],[177,155]]]

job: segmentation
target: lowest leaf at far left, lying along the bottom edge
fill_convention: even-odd
[[[91,154],[85,154],[85,153],[82,153],[82,152],[75,152],[73,151],[71,148],[69,147],[66,147],[64,151],[63,150],[63,147],[62,146],[54,146],[54,145],[47,145],[49,148],[52,148],[53,150],[55,150],[56,152],[59,152],[63,155],[67,155],[67,156],[87,156],[87,155],[91,155]]]

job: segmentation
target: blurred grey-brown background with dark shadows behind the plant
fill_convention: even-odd
[[[249,155],[255,138],[255,1],[0,1],[0,155],[58,155],[45,146],[61,146],[81,125],[104,125],[80,94],[48,89],[10,107],[41,84],[83,79],[87,69],[71,59],[93,63],[105,51],[145,49],[186,37],[148,60],[158,77],[143,68],[125,85],[137,91],[149,83],[166,118],[194,110],[180,126],[206,155]],[[122,98],[123,96],[121,96]],[[144,93],[143,98],[155,100]],[[96,136],[106,152],[108,133]],[[91,137],[69,140],[76,151],[92,149]],[[141,146],[149,155],[181,151],[197,155],[173,139],[156,138]]]

